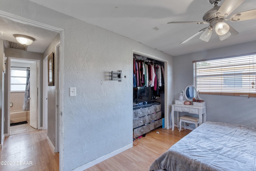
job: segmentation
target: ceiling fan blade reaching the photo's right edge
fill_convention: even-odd
[[[244,20],[252,20],[256,19],[256,9],[244,11],[244,12],[238,12],[236,14],[233,14],[230,17],[230,21],[236,22],[236,21],[244,21]]]

